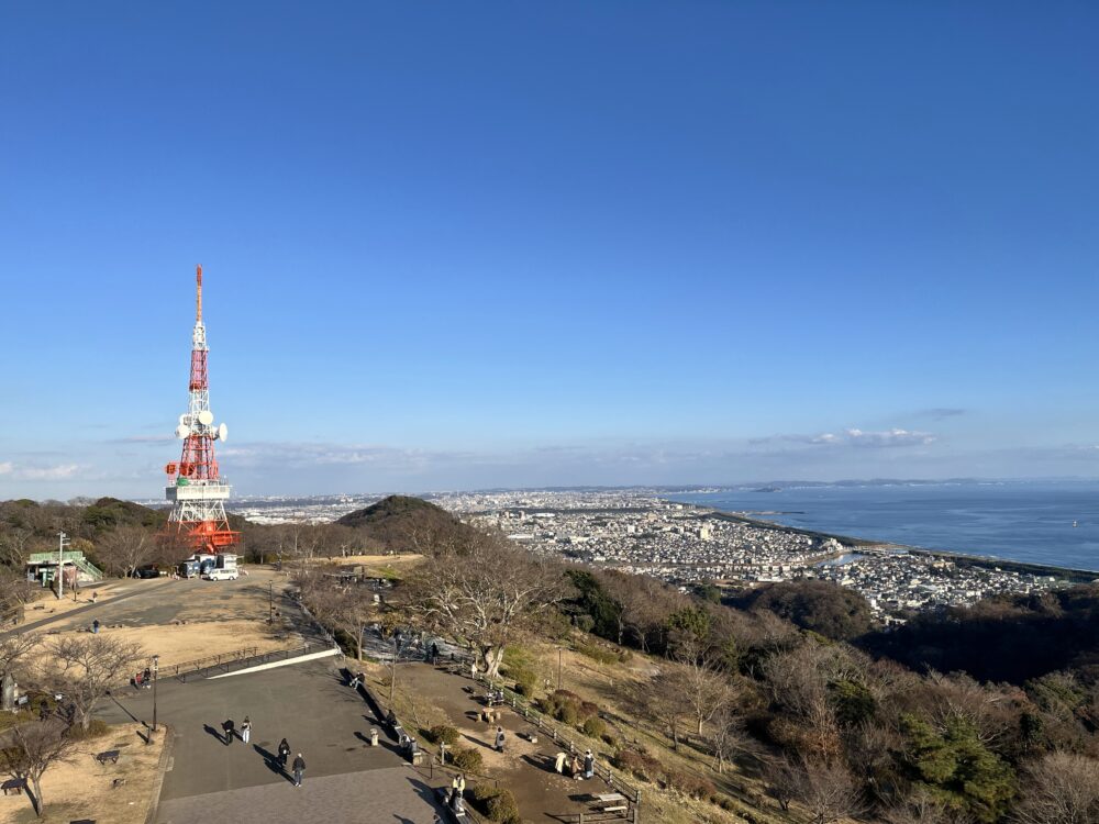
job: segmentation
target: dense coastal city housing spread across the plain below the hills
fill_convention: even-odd
[[[677,503],[663,490],[520,490],[431,495],[464,520],[518,545],[680,587],[735,587],[819,578],[857,590],[882,620],[1064,586],[1055,570],[972,561],[836,537]],[[334,521],[376,495],[247,499],[234,511],[257,523]]]

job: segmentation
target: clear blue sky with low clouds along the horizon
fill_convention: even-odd
[[[1091,3],[0,10],[0,497],[1099,476]]]

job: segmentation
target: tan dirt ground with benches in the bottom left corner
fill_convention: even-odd
[[[0,824],[67,824],[92,819],[111,824],[143,824],[153,798],[153,783],[164,745],[162,732],[146,746],[135,724],[113,726],[98,738],[81,742],[71,761],[46,771],[42,779],[45,810],[34,817],[23,795],[0,795]],[[118,764],[99,764],[97,753],[118,749]],[[125,779],[118,789],[114,779]]]

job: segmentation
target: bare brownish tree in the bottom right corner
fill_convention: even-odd
[[[1099,823],[1099,761],[1075,753],[1047,753],[1025,769],[1018,824]]]

